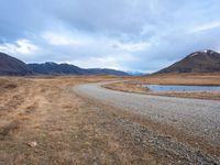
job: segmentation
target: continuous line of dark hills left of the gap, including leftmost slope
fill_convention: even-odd
[[[25,76],[25,75],[120,75],[128,73],[114,69],[91,68],[84,69],[70,64],[25,64],[20,59],[0,53],[0,76]]]

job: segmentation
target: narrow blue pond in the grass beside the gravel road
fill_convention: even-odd
[[[220,91],[220,86],[140,85],[152,91]]]

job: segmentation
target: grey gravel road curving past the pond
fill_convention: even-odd
[[[101,87],[105,84],[108,82],[79,85],[74,90],[220,143],[220,101],[122,92]]]

